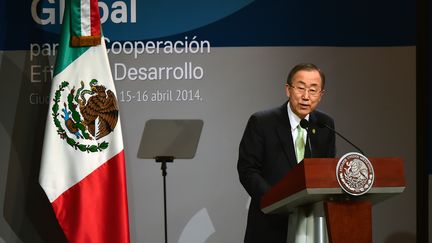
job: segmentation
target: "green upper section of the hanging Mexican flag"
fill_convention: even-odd
[[[72,1],[78,2],[80,1]],[[65,11],[63,16],[63,24],[60,35],[60,45],[54,67],[54,76],[63,71],[69,64],[80,57],[89,47],[71,47],[71,0],[65,2]],[[74,22],[80,22],[74,21]]]

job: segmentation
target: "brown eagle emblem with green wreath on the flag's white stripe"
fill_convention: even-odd
[[[55,91],[51,109],[54,124],[60,138],[73,148],[83,152],[102,151],[108,148],[108,142],[101,139],[117,125],[117,99],[114,92],[96,79],[88,83],[87,89],[83,81],[80,84],[77,90],[74,86],[67,93],[69,83],[63,81]]]

